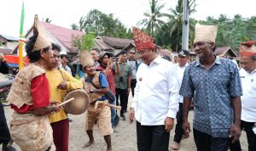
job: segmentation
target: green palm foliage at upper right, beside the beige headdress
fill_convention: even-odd
[[[200,22],[204,25],[218,25],[217,46],[230,47],[237,54],[241,42],[256,38],[256,16],[245,19],[240,14],[235,14],[233,19],[229,19],[225,14],[220,14],[218,19],[207,17],[206,21]]]

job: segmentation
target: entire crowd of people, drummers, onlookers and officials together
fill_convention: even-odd
[[[129,59],[126,52],[119,53],[114,62],[110,53],[81,51],[85,76],[79,81],[65,65],[59,68],[61,48],[49,42],[36,15],[33,36],[26,42],[31,63],[17,74],[7,98],[15,110],[10,121],[12,140],[21,150],[68,150],[67,113],[58,104],[67,91],[80,88],[90,98],[85,114],[89,142],[82,148],[95,143],[93,128],[97,123],[107,150],[113,150],[111,133],[117,112],[105,103],[120,104],[119,118],[125,120],[131,91],[129,121],[137,120],[138,151],[168,151],[175,119],[171,148],[178,150],[182,138],[192,131],[188,120],[192,99],[198,151],[241,150],[241,130],[247,133],[248,150],[256,150],[256,41],[241,43],[239,70],[232,60],[214,54],[217,31],[216,25],[195,25],[192,48],[198,59],[189,64],[189,51],[181,50],[178,64],[172,64],[160,57],[151,36],[133,27],[137,52],[130,50]],[[109,92],[115,101],[108,100]],[[97,101],[104,103],[96,109]]]

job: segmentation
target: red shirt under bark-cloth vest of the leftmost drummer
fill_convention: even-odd
[[[33,109],[49,106],[49,82],[44,75],[37,76],[31,81],[32,105],[23,104],[20,109],[14,104],[10,104],[12,109],[18,113],[26,113]]]

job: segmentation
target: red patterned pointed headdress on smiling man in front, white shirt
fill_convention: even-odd
[[[136,27],[132,27],[133,40],[135,42],[137,50],[152,49],[155,47],[154,40],[151,36],[148,36],[143,31],[140,31]]]

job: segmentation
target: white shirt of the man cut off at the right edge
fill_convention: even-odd
[[[241,120],[256,122],[256,70],[239,70],[241,77]]]

